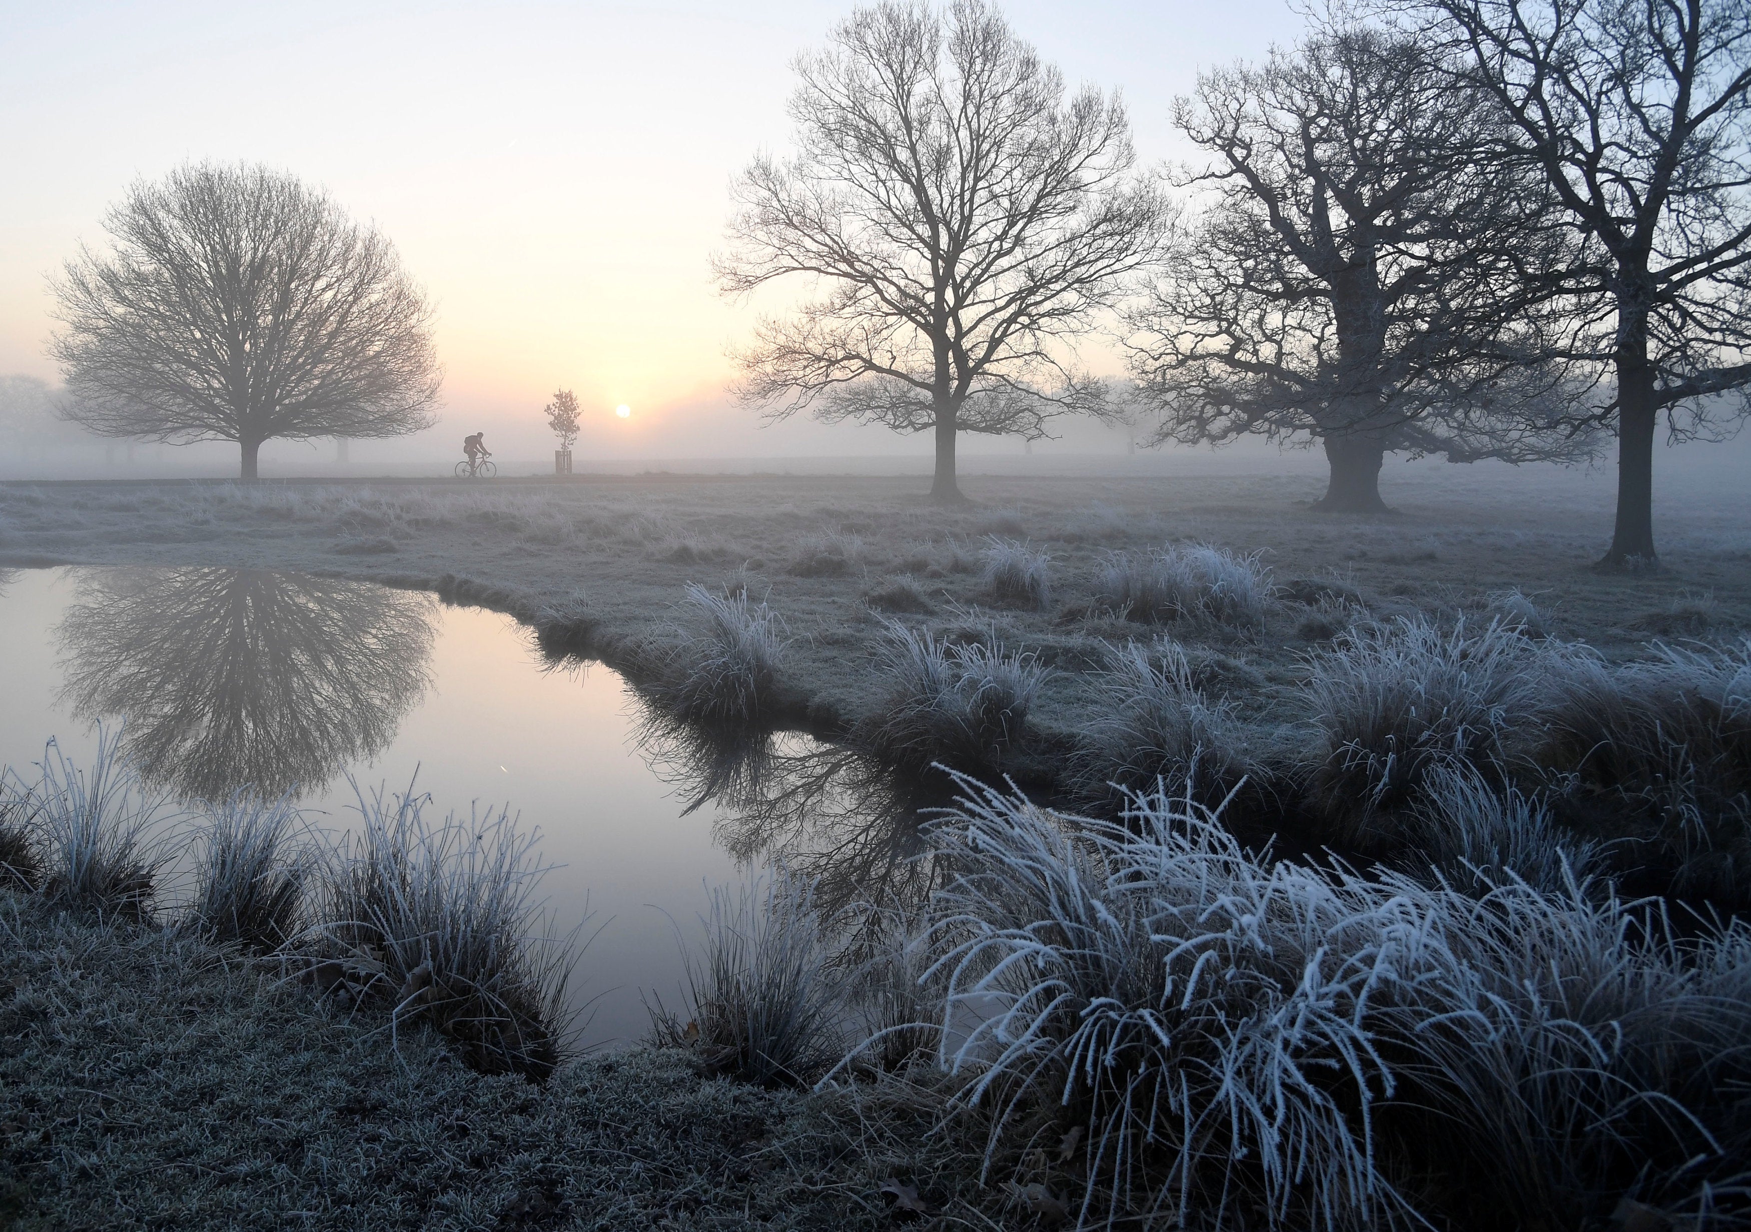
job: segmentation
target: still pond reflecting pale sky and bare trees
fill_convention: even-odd
[[[368,583],[4,572],[0,679],[0,763],[26,775],[49,737],[88,765],[102,719],[184,798],[292,793],[329,830],[348,826],[348,779],[415,784],[440,816],[510,805],[559,864],[543,882],[559,928],[588,915],[587,1045],[639,1038],[651,994],[678,1003],[707,886],[777,856],[828,901],[904,880],[932,803],[800,733],[665,719],[601,663],[545,658],[510,616]]]

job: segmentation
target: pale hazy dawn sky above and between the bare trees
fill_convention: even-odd
[[[438,301],[447,424],[534,427],[567,385],[587,441],[728,441],[753,422],[723,397],[749,313],[709,282],[728,182],[786,145],[790,60],[849,9],[0,0],[0,373],[54,376],[44,275],[130,180],[254,159],[399,245]],[[1301,28],[1283,0],[1005,10],[1072,86],[1122,88],[1145,163],[1185,154],[1168,112],[1199,68]]]

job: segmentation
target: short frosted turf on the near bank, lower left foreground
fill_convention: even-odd
[[[263,970],[268,968],[268,970]],[[886,1232],[898,1176],[968,1183],[933,1106],[700,1082],[692,1057],[478,1074],[385,1006],[280,982],[189,931],[0,894],[0,1194],[18,1228]]]

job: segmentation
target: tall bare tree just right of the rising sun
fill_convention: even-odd
[[[932,495],[960,500],[960,432],[1037,439],[1100,411],[1070,341],[1159,247],[1119,100],[1082,89],[982,0],[858,9],[797,61],[797,154],[737,184],[727,294],[800,275],[763,320],[741,396],[784,418],[935,432]]]

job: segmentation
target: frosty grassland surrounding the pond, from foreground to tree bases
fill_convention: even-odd
[[[1663,569],[1600,574],[1599,476],[1397,474],[1380,518],[1311,513],[1304,474],[982,478],[958,509],[846,476],[0,488],[0,565],[436,590],[625,672],[707,754],[805,728],[963,772],[933,896],[725,894],[667,1046],[557,1069],[478,1026],[545,1041],[508,831],[382,807],[268,901],[280,831],[233,807],[198,906],[154,919],[131,856],[84,891],[58,854],[124,821],[14,780],[14,1209],[1742,1227],[1751,492],[1672,485]],[[440,1013],[445,980],[489,1010]],[[242,1144],[165,1113],[191,1104]]]

